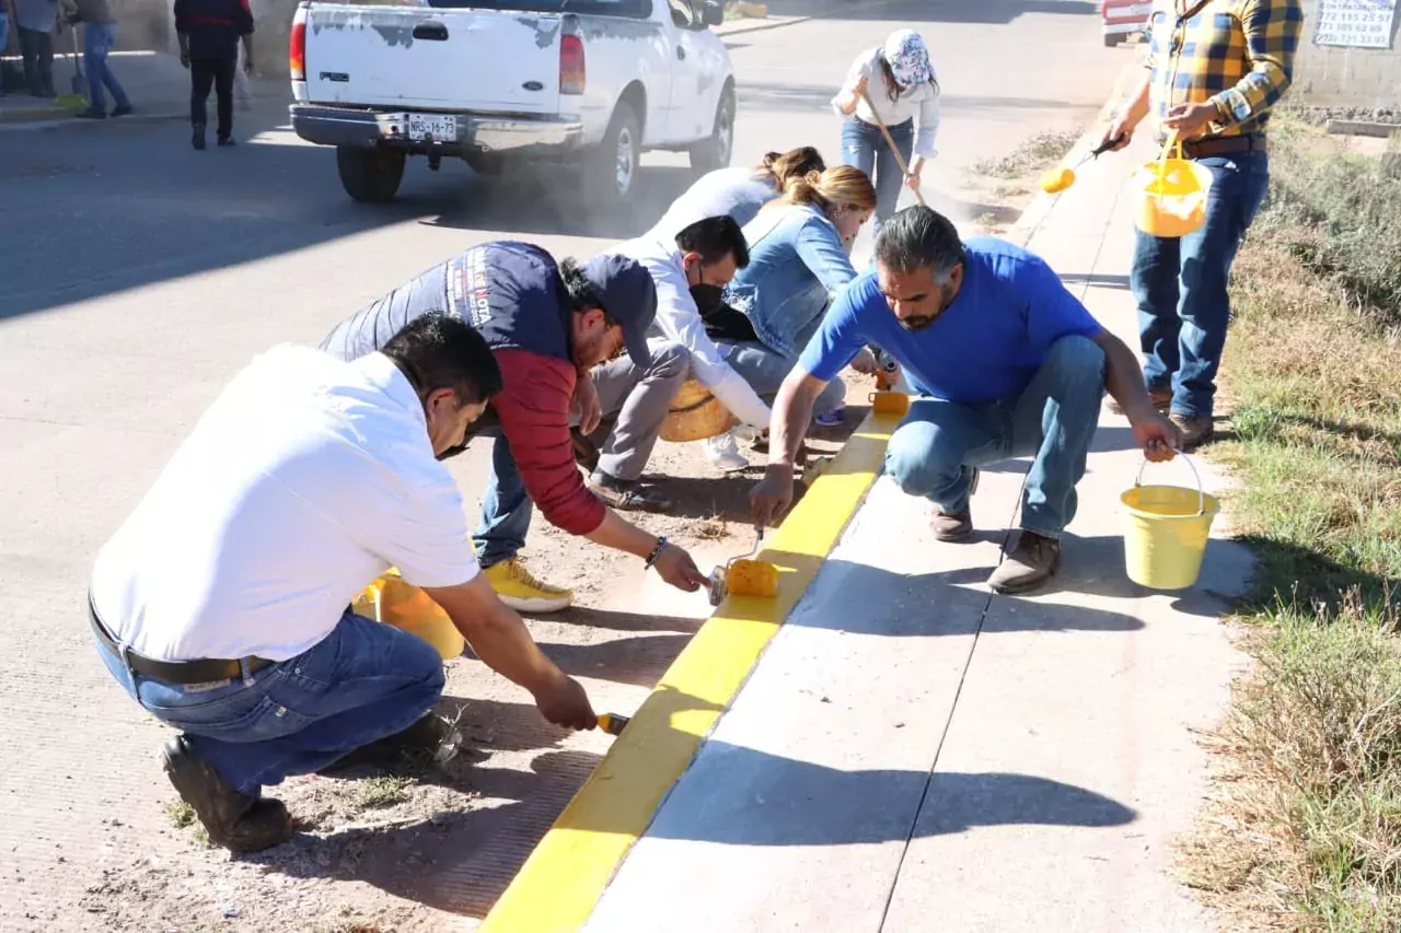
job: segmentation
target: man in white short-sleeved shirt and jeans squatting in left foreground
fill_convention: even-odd
[[[263,786],[425,731],[443,692],[437,651],[349,609],[391,566],[549,721],[595,724],[584,689],[478,573],[437,459],[500,388],[482,336],[441,314],[353,363],[276,347],[214,401],[98,553],[94,642],[181,730],[165,773],[213,842],[286,841],[291,820]]]

